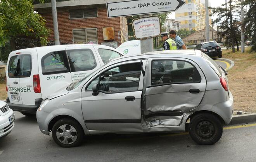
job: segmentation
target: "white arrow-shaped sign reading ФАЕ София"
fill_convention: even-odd
[[[185,4],[183,0],[130,0],[107,3],[108,17],[174,12]]]

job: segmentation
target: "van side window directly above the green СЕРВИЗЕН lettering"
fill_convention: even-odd
[[[41,60],[43,75],[69,72],[65,51],[56,51],[43,56]]]

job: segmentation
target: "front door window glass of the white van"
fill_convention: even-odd
[[[67,50],[71,72],[93,70],[96,60],[91,49],[71,49]]]

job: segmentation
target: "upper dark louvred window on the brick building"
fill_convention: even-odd
[[[97,8],[69,10],[69,19],[98,17]]]

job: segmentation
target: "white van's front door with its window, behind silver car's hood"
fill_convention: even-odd
[[[93,46],[67,47],[66,53],[71,68],[72,82],[81,80],[102,66]]]

